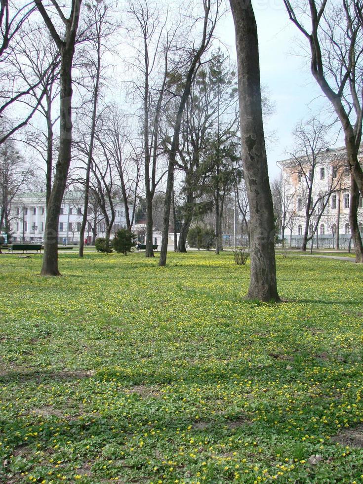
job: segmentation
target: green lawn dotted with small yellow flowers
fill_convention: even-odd
[[[363,268],[157,262],[0,256],[0,482],[363,482]]]

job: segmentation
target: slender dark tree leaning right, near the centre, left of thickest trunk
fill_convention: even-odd
[[[163,214],[163,226],[162,226],[162,241],[160,249],[159,266],[166,265],[167,254],[167,241],[169,233],[169,219],[170,219],[170,207],[171,207],[171,195],[174,182],[174,167],[176,162],[176,156],[179,149],[179,135],[183,119],[183,114],[187,99],[190,94],[192,83],[195,79],[198,67],[201,64],[201,58],[205,50],[208,48],[210,41],[212,40],[214,28],[219,15],[220,0],[216,1],[215,12],[213,14],[211,9],[211,0],[203,0],[203,29],[202,39],[199,47],[196,48],[193,42],[193,48],[191,49],[191,56],[188,62],[188,68],[183,83],[183,89],[180,94],[179,103],[176,111],[176,119],[172,134],[172,141],[170,144],[170,150],[168,152],[168,168],[167,168],[167,180],[165,190],[165,202],[164,202],[164,214]]]

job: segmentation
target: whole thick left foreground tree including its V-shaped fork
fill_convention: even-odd
[[[67,18],[56,0],[55,11],[64,24],[64,34],[59,34],[41,0],[34,0],[43,21],[60,53],[60,131],[59,152],[53,187],[47,206],[44,230],[44,255],[40,274],[60,276],[58,270],[58,222],[61,203],[67,183],[72,148],[72,65],[82,0],[72,0]]]

